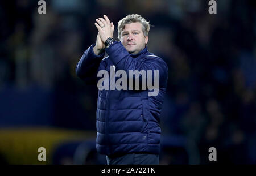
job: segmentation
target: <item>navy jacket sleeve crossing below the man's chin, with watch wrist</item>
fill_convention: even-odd
[[[168,79],[168,67],[166,62],[162,58],[154,56],[146,56],[142,60],[134,59],[130,56],[128,51],[123,47],[121,42],[113,42],[109,48],[106,48],[106,53],[109,55],[109,59],[114,63],[118,70],[125,70],[128,75],[129,70],[152,70],[152,81],[154,82],[154,70],[159,71],[159,86],[165,87]],[[136,78],[135,78],[136,79]],[[139,78],[140,82],[141,79]]]

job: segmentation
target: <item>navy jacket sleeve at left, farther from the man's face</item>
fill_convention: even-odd
[[[96,55],[93,52],[91,45],[82,55],[80,61],[76,65],[76,75],[79,76],[87,84],[97,84],[98,70],[105,69],[106,63],[104,60],[105,52],[101,55]]]

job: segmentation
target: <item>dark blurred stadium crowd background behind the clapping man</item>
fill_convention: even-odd
[[[217,1],[217,14],[208,2],[46,0],[38,14],[38,1],[1,1],[0,162],[38,163],[31,145],[44,146],[43,134],[52,141],[47,164],[105,163],[94,149],[97,86],[75,67],[96,42],[96,18],[106,14],[118,40],[117,22],[137,13],[154,25],[148,50],[169,68],[160,164],[256,164],[255,2]],[[74,135],[52,138],[55,130]]]

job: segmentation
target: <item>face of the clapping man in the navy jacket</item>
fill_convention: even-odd
[[[141,23],[129,23],[125,24],[125,28],[121,32],[120,41],[130,54],[137,54],[145,48],[148,36],[144,36]]]

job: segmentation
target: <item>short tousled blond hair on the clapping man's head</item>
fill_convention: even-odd
[[[141,15],[139,14],[131,14],[131,15],[127,15],[125,18],[121,19],[118,22],[118,39],[120,40],[121,37],[121,32],[123,31],[123,29],[125,28],[125,24],[129,24],[129,23],[141,23],[142,24],[142,31],[144,33],[144,36],[148,36],[148,32],[150,30],[150,23],[147,22],[146,19],[144,19]]]

